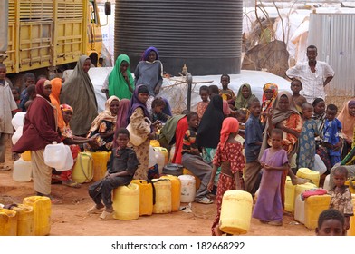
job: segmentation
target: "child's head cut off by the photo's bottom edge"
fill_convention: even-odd
[[[339,210],[323,210],[318,217],[317,236],[345,236],[344,216]]]

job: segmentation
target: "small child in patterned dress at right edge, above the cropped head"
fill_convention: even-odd
[[[350,229],[350,216],[353,216],[351,193],[348,186],[344,185],[348,179],[348,170],[345,167],[337,167],[333,171],[334,188],[328,193],[331,195],[329,208],[339,210],[344,216],[344,230]]]

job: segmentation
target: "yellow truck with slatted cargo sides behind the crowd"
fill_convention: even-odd
[[[7,73],[43,68],[55,73],[75,64],[82,54],[100,66],[96,0],[1,0],[0,8],[0,63]]]

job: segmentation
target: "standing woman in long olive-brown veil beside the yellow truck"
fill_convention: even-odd
[[[62,84],[61,103],[72,106],[72,132],[84,136],[89,131],[91,122],[98,115],[95,91],[88,74],[91,60],[82,55],[70,77]]]

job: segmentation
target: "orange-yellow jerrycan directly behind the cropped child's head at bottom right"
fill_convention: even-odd
[[[304,226],[315,230],[318,225],[318,217],[323,210],[329,209],[331,195],[315,195],[304,200]]]

